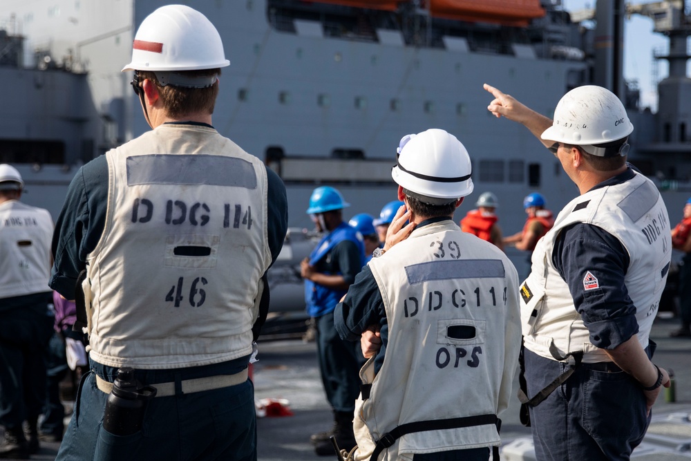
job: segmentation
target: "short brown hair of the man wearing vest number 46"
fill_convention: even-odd
[[[187,77],[207,77],[220,75],[220,68],[203,70],[185,70]],[[179,119],[184,115],[196,112],[214,113],[216,97],[218,97],[218,81],[207,88],[186,88],[184,86],[161,86],[155,73],[147,70],[139,70],[140,81],[150,79],[158,87],[163,107],[169,117]]]

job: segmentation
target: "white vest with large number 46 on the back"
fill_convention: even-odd
[[[91,357],[165,369],[249,355],[271,263],[262,162],[214,129],[178,124],[106,159],[106,223],[83,284]]]

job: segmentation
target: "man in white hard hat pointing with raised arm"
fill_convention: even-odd
[[[550,120],[484,88],[495,98],[489,111],[524,124],[580,191],[538,241],[520,291],[520,397],[536,455],[628,459],[670,381],[652,363],[650,341],[672,251],[665,203],[626,162],[634,127],[611,91],[574,88]],[[569,391],[554,391],[553,382]]]

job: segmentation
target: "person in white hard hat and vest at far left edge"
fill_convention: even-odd
[[[53,335],[48,311],[53,219],[48,210],[21,203],[23,187],[19,171],[0,164],[0,425],[5,428],[0,458],[28,459],[39,450],[44,355]]]

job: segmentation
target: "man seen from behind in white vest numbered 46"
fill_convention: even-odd
[[[152,12],[123,69],[152,131],[70,185],[51,286],[85,306],[93,373],[58,459],[256,458],[248,364],[287,203],[276,173],[211,125],[228,65],[201,12]],[[128,397],[139,413],[119,407]]]

